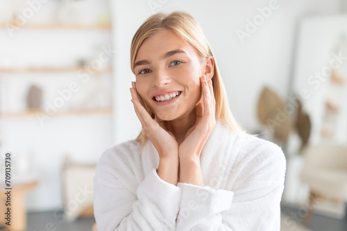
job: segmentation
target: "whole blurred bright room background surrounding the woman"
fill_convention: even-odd
[[[0,230],[92,230],[95,165],[141,131],[131,39],[173,10],[203,28],[237,121],[285,152],[281,230],[347,230],[347,0],[0,0]]]

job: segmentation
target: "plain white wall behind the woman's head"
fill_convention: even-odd
[[[232,112],[248,131],[259,129],[255,109],[262,86],[267,84],[283,98],[287,96],[297,21],[307,15],[332,15],[340,6],[338,0],[278,1],[278,9],[242,44],[236,30],[244,30],[246,19],[253,19],[259,14],[257,8],[269,6],[269,2],[110,0],[117,50],[114,142],[133,139],[141,130],[130,102],[130,82],[135,81],[130,71],[130,42],[137,28],[155,12],[151,3],[161,5],[157,10],[185,10],[198,20],[216,56]]]

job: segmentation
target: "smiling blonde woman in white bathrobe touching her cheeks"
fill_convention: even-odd
[[[142,132],[96,167],[99,230],[280,230],[285,156],[232,117],[194,18],[153,15],[135,33],[130,59]]]

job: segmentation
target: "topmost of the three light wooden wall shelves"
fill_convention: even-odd
[[[24,29],[39,30],[111,30],[111,25],[83,25],[83,24],[16,24],[15,22],[1,23],[0,28],[19,27]]]

